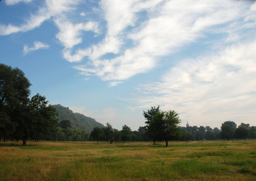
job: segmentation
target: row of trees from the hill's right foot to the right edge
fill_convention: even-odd
[[[256,126],[240,124],[236,126],[233,121],[225,121],[221,129],[210,126],[180,127],[180,119],[176,111],[161,111],[159,106],[143,111],[146,126],[140,126],[138,131],[131,131],[129,126],[122,126],[122,130],[113,129],[110,124],[104,128],[95,127],[90,133],[90,140],[95,141],[203,141],[203,140],[230,140],[230,139],[255,139]]]

